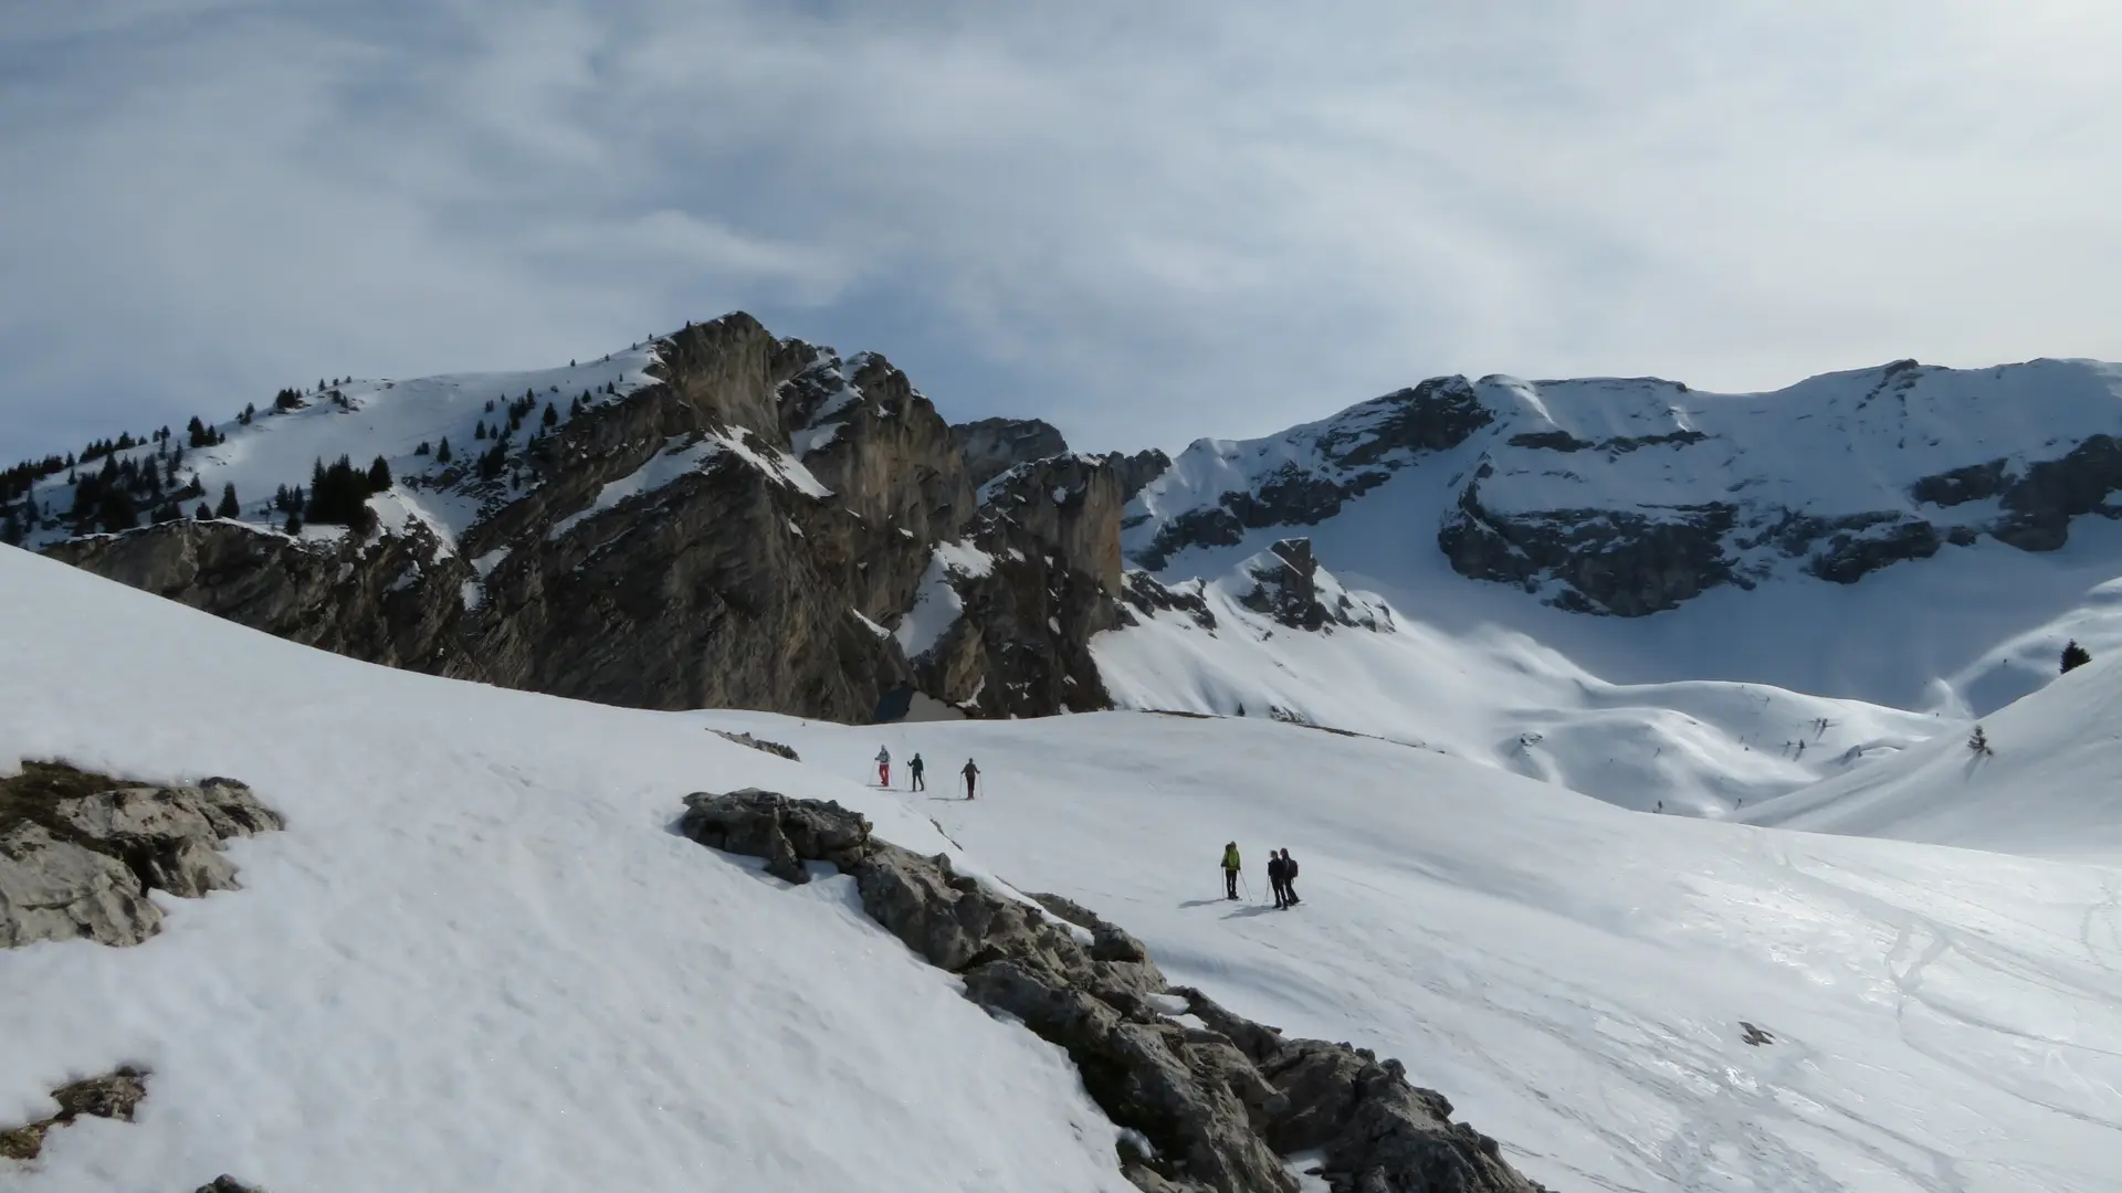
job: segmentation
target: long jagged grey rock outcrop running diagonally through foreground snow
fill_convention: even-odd
[[[876,841],[838,805],[743,790],[692,794],[679,830],[808,881],[806,862],[853,877],[864,911],[966,998],[1065,1049],[1084,1089],[1148,1148],[1120,1146],[1150,1193],[1294,1193],[1284,1155],[1322,1151],[1335,1193],[1536,1193],[1451,1104],[1398,1061],[1286,1040],[1193,989],[1169,989],[1148,949],[1059,896],[1027,904]],[[1207,1027],[1171,1015],[1190,1010]]]

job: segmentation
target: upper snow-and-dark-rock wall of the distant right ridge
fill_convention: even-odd
[[[1895,361],[1766,395],[1434,378],[1271,439],[1195,444],[1129,507],[1127,548],[1184,571],[1356,516],[1430,539],[1460,575],[1634,618],[1717,586],[1855,584],[1982,537],[2056,550],[2073,518],[2122,516],[2118,414],[2122,367],[2092,361]]]

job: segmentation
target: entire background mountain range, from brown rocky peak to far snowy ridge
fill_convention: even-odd
[[[2073,535],[2116,514],[2118,378],[1432,378],[1171,461],[953,427],[883,357],[730,314],[564,369],[327,380],[0,497],[25,546],[416,671],[840,722],[1271,715],[1725,815],[2039,686],[2050,630],[2122,643],[2029,596],[2122,573]],[[1969,569],[1999,596],[1931,586]],[[1859,588],[1886,613],[1808,605]]]

